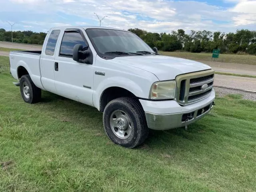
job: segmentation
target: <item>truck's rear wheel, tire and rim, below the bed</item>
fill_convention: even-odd
[[[29,75],[20,78],[20,93],[26,103],[36,103],[41,99],[41,89],[35,86]]]

